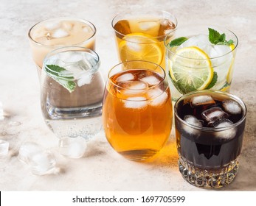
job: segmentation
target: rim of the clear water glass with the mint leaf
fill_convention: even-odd
[[[73,49],[73,50],[72,50]],[[75,50],[77,49],[77,50]],[[80,49],[80,50],[78,50]],[[59,51],[60,50],[60,51]],[[62,51],[63,50],[63,51]],[[56,52],[56,51],[59,51],[59,52]],[[83,51],[83,52],[87,52],[87,53],[90,53],[90,54],[93,54],[96,58],[97,58],[97,63],[95,65],[93,65],[92,68],[99,68],[99,65],[100,65],[100,57],[99,55],[91,50],[91,49],[88,49],[86,47],[83,47],[83,46],[62,46],[62,47],[58,47],[57,49],[54,49],[52,51],[50,51],[48,54],[46,54],[46,57],[44,57],[44,60],[43,60],[43,69],[45,70],[45,68],[49,69],[50,71],[52,71],[51,68],[49,68],[46,64],[45,64],[45,61],[50,57],[52,56],[52,54],[60,54],[62,52],[66,52],[66,51]],[[55,74],[61,74],[61,72],[58,72],[58,71],[52,71],[53,73]],[[70,73],[65,73],[66,75],[74,75],[74,73],[70,72]],[[66,79],[66,77],[60,77],[60,78],[63,78],[63,79]]]

